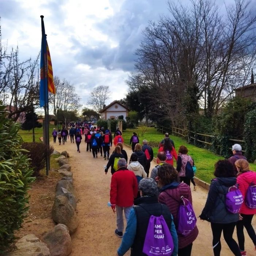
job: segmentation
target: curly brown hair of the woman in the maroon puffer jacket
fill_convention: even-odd
[[[159,179],[160,186],[165,186],[172,182],[179,181],[179,174],[171,164],[163,164],[158,169],[157,176]]]

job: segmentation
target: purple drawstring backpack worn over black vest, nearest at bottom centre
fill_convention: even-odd
[[[173,253],[173,248],[174,244],[172,235],[167,226],[167,223],[165,222],[163,215],[151,215],[143,245],[143,253],[145,253],[148,256],[171,256]]]

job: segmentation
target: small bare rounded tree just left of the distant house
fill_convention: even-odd
[[[91,91],[91,95],[87,103],[95,107],[96,111],[99,112],[102,108],[104,108],[106,100],[108,100],[109,98],[109,86],[98,85]]]

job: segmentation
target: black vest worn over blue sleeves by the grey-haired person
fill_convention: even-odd
[[[166,205],[157,202],[156,197],[142,196],[135,200],[134,211],[137,219],[137,230],[131,247],[131,256],[146,256],[142,252],[151,215],[163,215],[168,228],[171,228],[171,213]],[[143,208],[142,208],[143,207]]]

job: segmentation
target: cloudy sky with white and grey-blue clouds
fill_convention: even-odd
[[[8,50],[18,45],[21,60],[39,53],[44,15],[53,73],[75,86],[83,105],[97,85],[109,85],[107,103],[125,96],[142,31],[167,14],[166,0],[0,0],[2,41]]]

